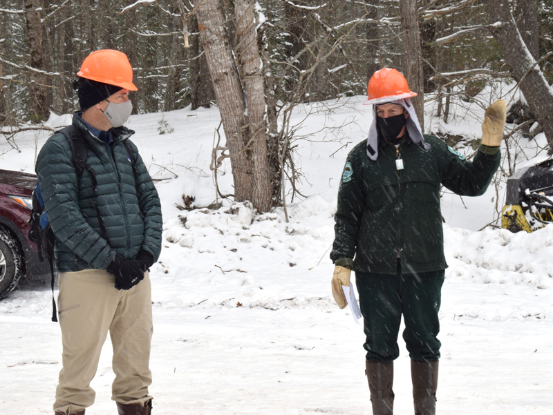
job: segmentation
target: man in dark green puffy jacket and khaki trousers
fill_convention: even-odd
[[[58,316],[63,339],[54,411],[84,414],[109,331],[118,413],[150,414],[149,356],[153,333],[148,269],[161,250],[160,200],[138,149],[131,115],[133,70],[126,55],[98,50],[74,86],[81,112],[71,138],[56,133],[41,148],[36,171],[55,235]],[[86,143],[77,175],[69,139]]]

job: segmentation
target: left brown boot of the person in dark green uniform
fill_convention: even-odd
[[[366,360],[365,373],[371,392],[373,415],[393,415],[393,362]]]

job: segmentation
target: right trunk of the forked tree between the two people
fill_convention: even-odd
[[[254,208],[267,212],[271,208],[271,186],[269,180],[269,162],[267,157],[267,122],[265,119],[265,91],[261,57],[255,30],[254,3],[250,0],[235,0],[236,15],[236,58],[241,71],[246,97],[249,141],[247,147],[252,151],[254,189],[252,204]]]

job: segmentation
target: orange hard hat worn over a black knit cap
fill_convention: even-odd
[[[96,50],[88,55],[77,72],[79,77],[120,86],[122,89],[138,90],[133,84],[133,67],[129,58],[119,50]]]

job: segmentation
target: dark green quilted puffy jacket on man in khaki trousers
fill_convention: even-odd
[[[135,258],[140,249],[157,261],[162,232],[158,192],[136,146],[130,143],[137,177],[122,144],[134,131],[112,128],[112,153],[76,116],[73,125],[88,143],[86,161],[96,173],[98,197],[93,193],[90,172],[85,169],[77,177],[68,139],[62,133],[54,134],[41,148],[36,171],[56,238],[57,270],[106,269],[115,253]],[[99,206],[109,244],[100,236],[94,202]]]

